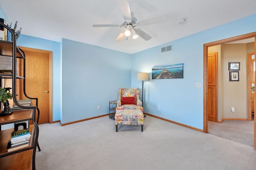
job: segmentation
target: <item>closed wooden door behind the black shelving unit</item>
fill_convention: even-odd
[[[20,49],[26,55],[26,94],[38,98],[40,109],[38,123],[52,123],[52,52],[26,47]],[[22,82],[20,92],[23,91]],[[26,99],[24,94],[20,94],[20,99]],[[33,105],[36,104],[35,102],[34,100]]]

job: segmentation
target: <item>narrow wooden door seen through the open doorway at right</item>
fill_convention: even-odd
[[[207,115],[208,121],[218,122],[217,110],[217,78],[218,53],[208,54],[208,85],[207,85]]]

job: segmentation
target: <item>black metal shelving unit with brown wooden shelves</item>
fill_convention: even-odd
[[[38,109],[38,98],[31,98],[26,94],[26,60],[25,53],[21,49],[16,46],[16,36],[15,33],[4,25],[8,31],[10,31],[13,41],[0,41],[0,55],[5,57],[12,57],[12,73],[0,73],[0,79],[12,79],[12,98],[14,103],[20,107],[21,109],[12,110],[13,113],[11,115],[6,115],[0,117],[0,125],[10,124],[10,123],[18,123],[21,121],[32,121],[33,124],[29,126],[31,132],[31,138],[29,142],[29,146],[24,149],[15,150],[12,152],[7,152],[7,143],[10,140],[10,134],[14,129],[7,129],[0,131],[0,167],[4,167],[3,169],[17,169],[19,167],[27,167],[29,169],[36,169],[35,158],[36,158],[36,147],[40,151],[40,147],[38,144],[38,135],[39,135],[39,127],[38,121],[40,116],[40,110]],[[0,57],[1,57],[0,56]],[[18,76],[17,73],[17,63],[16,60],[20,58],[23,60],[23,75]],[[32,99],[36,101],[36,106],[22,106],[18,103],[16,98],[16,80],[23,79],[23,93],[26,98]],[[1,81],[2,82],[2,81]],[[37,111],[37,119],[36,119],[36,111]],[[18,154],[18,155],[16,155]],[[17,158],[22,157],[23,162],[17,160]],[[20,158],[21,158],[20,157]],[[8,160],[8,161],[7,161]],[[5,162],[12,162],[11,164],[6,164]],[[31,162],[31,164],[28,164]],[[17,164],[17,165],[16,165]]]

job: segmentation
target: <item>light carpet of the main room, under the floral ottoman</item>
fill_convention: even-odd
[[[39,125],[37,170],[255,170],[253,147],[151,116],[115,130],[108,116]]]

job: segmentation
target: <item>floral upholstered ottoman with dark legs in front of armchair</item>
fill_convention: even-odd
[[[141,110],[116,110],[116,132],[118,125],[141,125],[143,132],[144,115]]]

